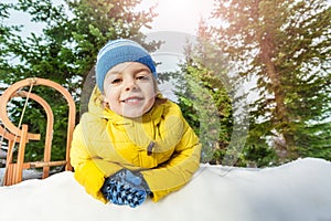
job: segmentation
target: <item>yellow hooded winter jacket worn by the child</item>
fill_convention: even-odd
[[[71,162],[75,179],[106,202],[100,188],[122,168],[138,170],[158,201],[183,187],[197,170],[201,144],[177,104],[156,103],[140,118],[104,108],[94,90],[88,112],[74,130]]]

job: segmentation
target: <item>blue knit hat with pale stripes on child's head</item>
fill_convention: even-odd
[[[139,62],[148,66],[157,77],[154,62],[146,49],[135,41],[119,39],[109,41],[98,53],[96,63],[96,83],[104,92],[104,81],[108,71],[124,62]]]

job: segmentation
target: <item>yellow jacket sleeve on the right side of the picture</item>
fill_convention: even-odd
[[[182,188],[200,167],[201,144],[185,119],[182,120],[184,133],[172,157],[154,169],[141,171],[153,193],[153,201]]]

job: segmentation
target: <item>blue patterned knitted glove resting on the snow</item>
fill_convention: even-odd
[[[106,178],[102,193],[114,204],[128,204],[135,208],[141,204],[151,192],[140,173],[122,169]]]

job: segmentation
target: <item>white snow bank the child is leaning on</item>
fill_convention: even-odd
[[[0,187],[1,221],[330,221],[331,162],[305,158],[265,169],[201,165],[160,202],[104,204],[72,172]]]

